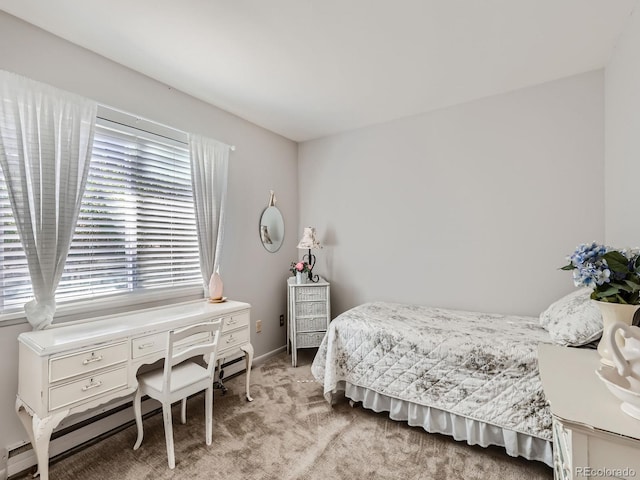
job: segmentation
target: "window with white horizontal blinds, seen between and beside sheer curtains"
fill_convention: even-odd
[[[201,285],[186,135],[167,131],[100,110],[59,302]],[[0,239],[0,313],[6,313],[33,294],[1,172]]]

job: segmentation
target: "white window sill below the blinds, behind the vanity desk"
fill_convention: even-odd
[[[91,320],[95,317],[129,312],[142,308],[157,307],[171,303],[204,298],[202,287],[183,287],[155,290],[144,293],[127,293],[100,297],[94,300],[80,300],[57,305],[53,324]],[[0,327],[27,323],[24,311],[0,315]]]

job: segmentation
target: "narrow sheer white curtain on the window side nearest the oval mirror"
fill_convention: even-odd
[[[230,149],[217,140],[189,135],[200,271],[206,297],[211,275],[220,268]]]

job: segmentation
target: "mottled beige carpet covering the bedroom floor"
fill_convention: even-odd
[[[312,351],[291,367],[285,354],[255,367],[252,403],[244,375],[216,391],[213,445],[204,443],[203,396],[189,401],[187,424],[174,407],[176,468],[167,467],[162,416],[145,420],[133,451],[135,425],[53,462],[51,480],[156,479],[500,479],[549,480],[540,462],[500,448],[470,447],[389,420],[346,401],[331,407],[310,373]],[[22,477],[26,478],[26,477]]]

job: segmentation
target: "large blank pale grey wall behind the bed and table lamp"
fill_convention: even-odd
[[[332,313],[389,300],[537,315],[604,237],[603,72],[305,142],[300,224]],[[640,167],[639,167],[640,168]]]

